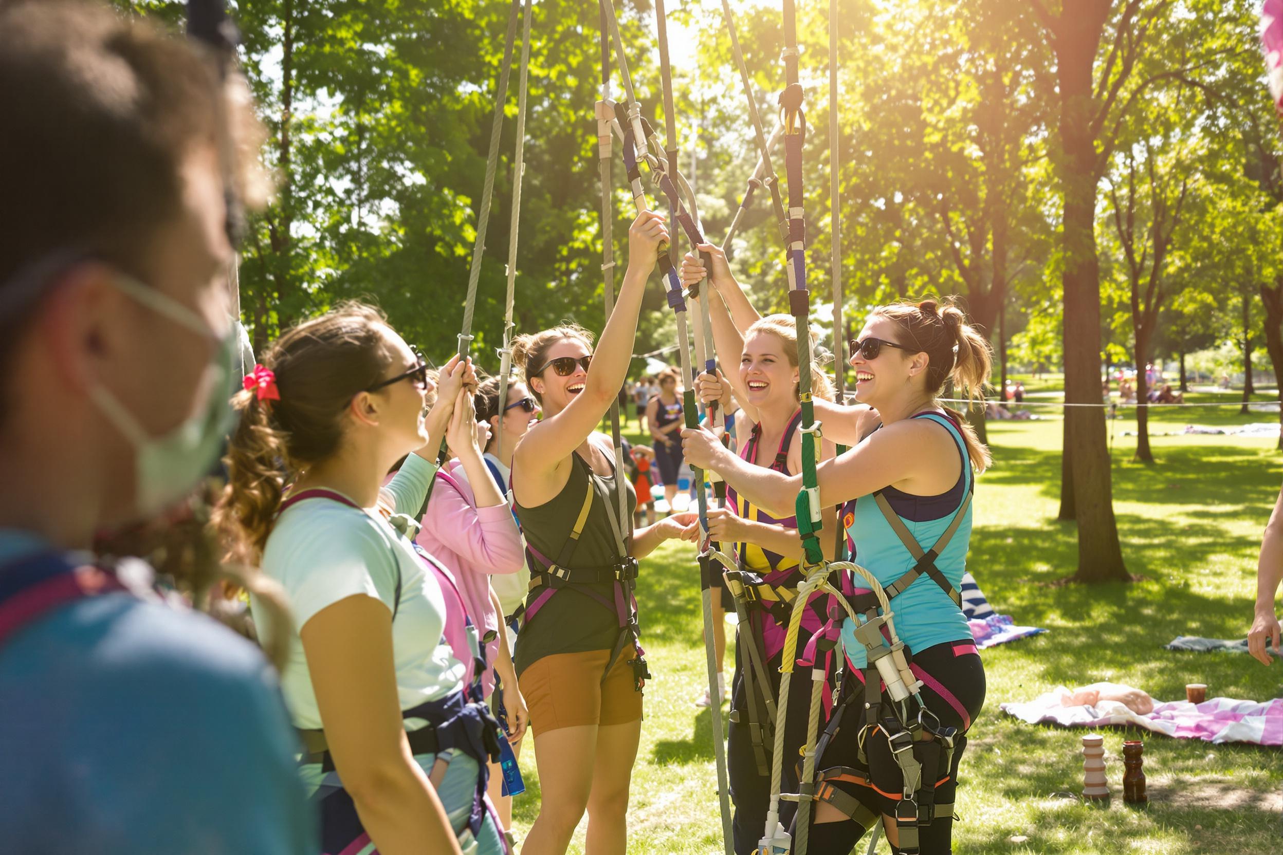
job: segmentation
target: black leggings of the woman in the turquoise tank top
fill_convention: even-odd
[[[965,733],[984,706],[984,667],[980,664],[979,654],[975,652],[975,645],[962,641],[935,645],[913,654],[912,663],[915,672],[919,672],[919,679],[924,682],[921,692],[926,708],[940,719],[940,724],[956,727],[960,735]],[[925,676],[921,672],[925,672]],[[896,793],[902,791],[903,784],[899,767],[890,752],[890,743],[880,729],[871,731],[866,737],[865,750],[869,763],[867,765],[860,763],[858,740],[863,713],[860,699],[863,691],[863,682],[854,674],[847,674],[843,696],[845,700],[849,692],[857,692],[853,699],[856,702],[845,706],[842,728],[829,743],[824,756],[819,758],[816,767],[820,769],[852,767],[869,772],[872,787],[847,782],[838,782],[837,786],[858,799],[874,814],[894,815],[898,801]],[[884,715],[892,715],[890,710],[890,696],[883,692]],[[948,779],[935,787],[938,805],[952,804],[955,800],[958,761],[965,747],[966,738],[958,736]],[[917,754],[916,747],[915,754]],[[938,777],[944,777],[943,770]],[[826,854],[849,852],[866,831],[854,820],[812,823],[808,849]],[[952,851],[952,817],[940,817],[928,826],[919,827],[919,849],[922,855],[948,855]]]

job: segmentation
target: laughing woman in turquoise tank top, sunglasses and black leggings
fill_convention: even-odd
[[[896,629],[922,683],[924,715],[947,740],[913,741],[911,754],[896,755],[892,738],[910,731],[897,732],[892,718],[861,720],[862,710],[853,706],[843,724],[839,713],[852,701],[872,701],[876,708],[879,699],[876,690],[865,692],[866,683],[878,682],[878,672],[862,670],[863,645],[856,642],[856,627],[845,626],[851,668],[817,761],[824,772],[810,846],[849,851],[881,815],[894,851],[949,852],[964,733],[984,704],[984,669],[956,594],[971,535],[973,473],[990,459],[971,428],[937,396],[946,381],[957,392],[978,392],[989,376],[989,347],[949,303],[897,303],[872,311],[851,342],[851,365],[856,397],[878,411],[883,426],[820,465],[820,504],[845,506],[843,524],[853,560],[893,597]],[[725,451],[708,431],[684,431],[683,440],[692,465],[718,472],[736,492],[771,513],[792,511],[801,476],[751,465]],[[934,565],[920,563],[916,556],[933,547]],[[925,572],[905,577],[915,565]],[[881,708],[890,710],[892,697],[885,692],[880,697]],[[940,747],[946,742],[947,750]],[[922,779],[910,792],[901,773],[907,756],[921,763]]]

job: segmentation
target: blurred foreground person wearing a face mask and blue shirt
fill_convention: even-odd
[[[230,424],[214,117],[257,126],[222,97],[146,22],[0,5],[5,851],[317,851],[262,652],[90,551],[186,499]]]

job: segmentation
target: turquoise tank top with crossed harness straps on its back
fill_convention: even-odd
[[[975,476],[962,432],[952,418],[937,411],[919,413],[912,418],[930,419],[948,431],[962,459],[962,473],[957,483],[937,496],[913,496],[894,487],[881,490],[913,538],[924,550],[929,550],[953,522],[962,500],[971,490]],[[883,517],[872,495],[847,502],[842,510],[842,522],[847,531],[852,560],[872,572],[883,585],[890,585],[917,563]],[[962,573],[966,572],[966,554],[970,545],[971,505],[967,505],[957,532],[935,559],[935,567],[949,585],[958,590],[962,588]],[[858,583],[857,579],[856,585]],[[896,614],[896,632],[911,651],[926,650],[947,641],[971,640],[971,631],[962,609],[925,573],[892,600],[890,608]],[[863,668],[865,649],[856,641],[854,627],[849,619],[843,623],[842,641],[852,667]]]

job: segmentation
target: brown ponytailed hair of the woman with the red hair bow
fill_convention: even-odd
[[[285,486],[340,449],[348,404],[393,363],[386,328],[382,313],[359,303],[307,320],[263,354],[280,400],[258,400],[254,391],[232,399],[240,423],[225,459],[228,482],[213,515],[228,560],[257,565]]]

